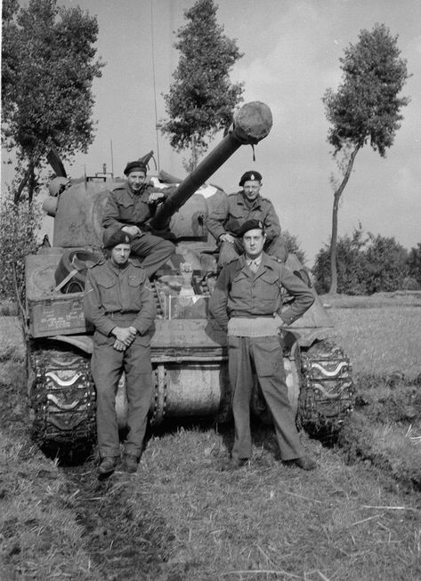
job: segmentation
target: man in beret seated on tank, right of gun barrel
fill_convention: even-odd
[[[258,172],[243,173],[239,186],[242,190],[224,196],[206,219],[207,230],[219,246],[218,266],[223,267],[242,254],[244,248],[239,229],[247,220],[263,222],[266,232],[264,251],[285,262],[287,249],[280,236],[279,218],[271,201],[260,195],[262,175]]]

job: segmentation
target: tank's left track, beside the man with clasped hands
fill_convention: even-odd
[[[74,351],[30,353],[32,436],[43,448],[82,450],[96,438],[95,388],[89,359]]]

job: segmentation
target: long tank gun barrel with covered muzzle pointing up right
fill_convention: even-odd
[[[252,101],[243,105],[234,116],[227,135],[215,149],[178,186],[174,193],[158,207],[150,221],[156,230],[166,228],[171,216],[203,185],[241,145],[255,145],[271,131],[271,109],[263,102]]]

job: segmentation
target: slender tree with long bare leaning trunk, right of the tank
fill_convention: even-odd
[[[407,61],[401,59],[398,36],[392,36],[384,24],[371,32],[361,30],[357,44],[350,44],[340,59],[343,82],[337,92],[328,89],[323,97],[331,127],[328,142],[339,153],[342,180],[335,184],[330,242],[330,293],[337,290],[336,246],[339,200],[348,183],[357,153],[367,143],[385,157],[403,118],[401,108],[408,97],[400,97],[409,78]]]

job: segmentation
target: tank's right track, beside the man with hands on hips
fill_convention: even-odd
[[[338,431],[354,405],[350,360],[335,344],[320,341],[301,352],[301,373],[298,423],[307,432]]]

